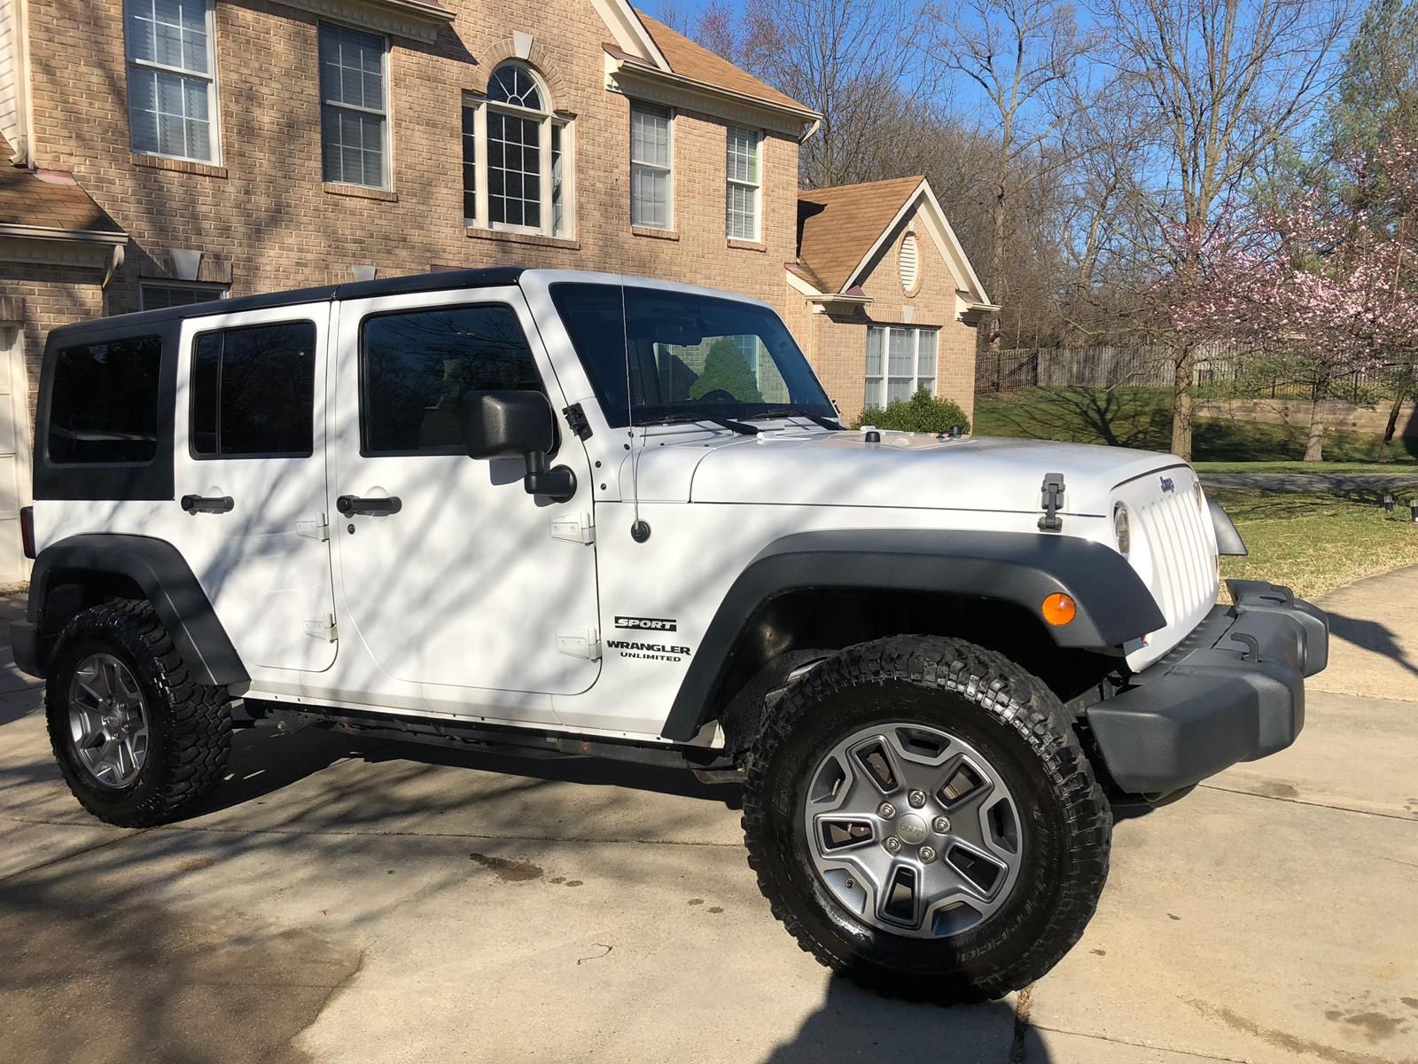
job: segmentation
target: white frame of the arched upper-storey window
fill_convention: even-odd
[[[505,104],[502,101],[489,101],[485,95],[464,92],[462,106],[465,109],[472,109],[472,136],[474,136],[474,180],[476,183],[475,201],[476,201],[476,216],[467,217],[467,210],[464,210],[462,224],[468,228],[485,228],[495,233],[522,233],[533,237],[553,237],[556,240],[574,240],[576,238],[576,122],[574,119],[562,118],[556,113],[554,101],[552,99],[552,92],[547,88],[546,78],[537,74],[529,64],[525,62],[499,62],[492,71],[502,70],[506,65],[516,65],[526,71],[532,79],[536,82],[537,92],[542,94],[542,104],[545,111],[533,111],[530,108],[518,106],[516,104]],[[491,82],[492,75],[488,75]],[[488,203],[489,190],[489,170],[488,170],[488,112],[498,111],[505,115],[513,115],[515,118],[533,119],[539,122],[539,159],[540,159],[540,186],[542,186],[542,224],[540,226],[513,226],[505,221],[492,221],[492,213]],[[562,228],[556,228],[556,211],[553,210],[552,200],[552,129],[562,131]],[[465,152],[461,159],[465,159]],[[467,163],[464,163],[467,165]],[[459,174],[464,173],[459,167]],[[461,182],[459,187],[467,192],[467,182]]]

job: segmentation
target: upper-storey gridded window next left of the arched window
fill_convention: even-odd
[[[325,180],[389,187],[389,41],[320,23]]]

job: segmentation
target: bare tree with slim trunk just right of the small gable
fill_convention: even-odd
[[[927,10],[934,27],[925,44],[930,60],[984,94],[995,143],[986,262],[998,302],[1011,295],[1005,282],[1011,199],[1044,174],[1042,149],[1058,129],[1059,105],[1075,98],[1065,88],[1095,38],[1079,34],[1073,9],[1062,0],[966,0],[932,3]],[[987,329],[991,349],[998,349],[1000,332],[995,315]]]

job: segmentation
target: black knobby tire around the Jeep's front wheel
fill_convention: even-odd
[[[964,738],[1020,800],[1024,858],[1012,892],[951,938],[906,938],[858,919],[808,854],[803,789],[818,759],[855,729],[900,719]],[[749,753],[743,830],[759,888],[803,949],[878,993],[951,1003],[1021,989],[1078,942],[1107,878],[1112,813],[1044,682],[964,640],[898,636],[848,647],[784,692]]]

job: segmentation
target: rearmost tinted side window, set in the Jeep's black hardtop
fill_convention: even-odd
[[[150,462],[157,454],[163,342],[132,336],[65,348],[54,362],[45,445],[58,465]]]

